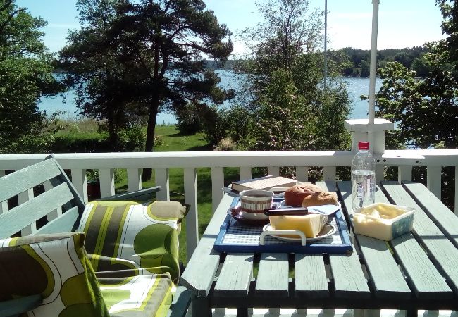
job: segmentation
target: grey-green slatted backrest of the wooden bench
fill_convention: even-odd
[[[35,196],[37,189],[42,193]],[[11,202],[16,197],[18,206],[8,210],[8,199]],[[29,235],[75,230],[85,208],[80,194],[52,156],[0,178],[0,206],[0,239],[18,232]],[[58,222],[48,223],[58,217]]]

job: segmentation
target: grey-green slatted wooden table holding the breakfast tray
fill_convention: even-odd
[[[317,183],[352,213],[349,182]],[[458,309],[458,217],[415,182],[382,182],[376,201],[416,208],[414,230],[387,243],[352,237],[348,254],[219,254],[213,244],[232,197],[223,197],[182,275],[193,316],[212,307]],[[257,270],[254,268],[257,268]],[[253,272],[257,271],[255,276]]]

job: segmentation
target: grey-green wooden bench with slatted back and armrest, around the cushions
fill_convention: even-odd
[[[35,196],[34,188],[42,193]],[[151,200],[161,187],[104,197],[104,200]],[[8,199],[18,197],[18,206],[8,210]],[[18,235],[37,235],[74,231],[85,208],[58,162],[50,156],[44,161],[0,178],[0,239]],[[190,294],[178,286],[167,316],[185,316]],[[0,302],[0,316],[16,316],[38,306],[39,294]]]

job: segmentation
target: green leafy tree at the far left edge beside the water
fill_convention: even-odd
[[[13,0],[0,0],[0,151],[42,151],[45,146],[40,138],[46,116],[37,104],[60,87],[41,40],[44,25]]]

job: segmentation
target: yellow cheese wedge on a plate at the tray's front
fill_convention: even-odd
[[[306,237],[311,238],[320,233],[328,220],[328,216],[310,213],[303,216],[269,216],[268,219],[273,230],[299,230],[304,232]]]

